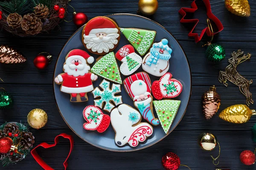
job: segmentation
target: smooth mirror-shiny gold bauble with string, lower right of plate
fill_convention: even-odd
[[[211,151],[217,145],[217,139],[212,133],[201,133],[198,137],[198,144],[203,150]]]

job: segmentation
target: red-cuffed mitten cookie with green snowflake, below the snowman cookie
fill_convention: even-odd
[[[158,100],[177,97],[181,91],[182,84],[177,79],[172,79],[171,73],[164,74],[159,81],[152,84],[152,94]]]

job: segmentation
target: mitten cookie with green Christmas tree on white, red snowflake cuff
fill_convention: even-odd
[[[125,76],[133,74],[142,63],[142,58],[135,53],[131,45],[125,45],[120,48],[116,52],[116,59],[122,62],[120,72]]]

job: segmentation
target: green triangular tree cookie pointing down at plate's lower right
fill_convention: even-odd
[[[153,101],[153,104],[163,130],[167,134],[180,107],[180,100],[157,100]]]

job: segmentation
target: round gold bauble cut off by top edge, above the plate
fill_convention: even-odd
[[[144,15],[153,15],[158,8],[157,0],[140,0],[139,10]]]

